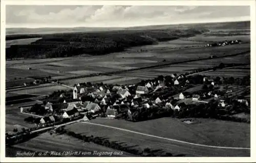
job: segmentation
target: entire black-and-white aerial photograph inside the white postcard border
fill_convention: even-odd
[[[6,5],[6,157],[250,157],[250,6]]]

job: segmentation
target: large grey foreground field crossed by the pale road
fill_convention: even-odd
[[[124,120],[95,119],[92,123],[119,127],[132,131],[152,134],[159,137],[177,139],[190,143],[214,146],[250,147],[250,125],[212,119],[199,119],[201,123],[185,124],[179,119],[161,118],[144,122],[127,122]],[[222,126],[222,127],[220,127]],[[160,138],[147,137],[138,133],[96,126],[87,123],[76,123],[66,127],[68,130],[84,135],[109,138],[118,142],[135,145],[135,148],[163,149],[173,154],[186,156],[248,156],[247,150],[214,149],[198,147]],[[216,137],[218,135],[218,137]],[[227,136],[228,135],[228,136]],[[230,139],[231,138],[231,139]]]

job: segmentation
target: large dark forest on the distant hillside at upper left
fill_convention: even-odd
[[[66,33],[44,35],[42,39],[29,45],[11,45],[6,49],[6,58],[23,57],[71,57],[81,54],[104,55],[106,53],[123,51],[132,46],[151,45],[155,41],[143,35],[155,38],[157,41],[168,41],[179,37],[194,36],[203,31],[188,29],[174,33],[175,30],[148,30],[98,32],[98,33]]]

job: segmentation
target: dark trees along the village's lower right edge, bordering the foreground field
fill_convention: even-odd
[[[211,100],[209,103],[189,104],[181,108],[180,111],[173,110],[169,107],[156,106],[156,107],[141,107],[138,110],[132,111],[128,120],[133,122],[145,121],[150,119],[162,117],[175,117],[175,118],[214,118],[223,120],[234,120],[240,122],[247,122],[241,118],[231,117],[238,113],[250,113],[249,108],[245,103],[240,103],[236,100],[231,100],[231,104],[222,107],[216,100]]]

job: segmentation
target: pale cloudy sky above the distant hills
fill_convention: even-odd
[[[250,20],[249,6],[6,6],[7,28],[100,28],[244,20]]]

